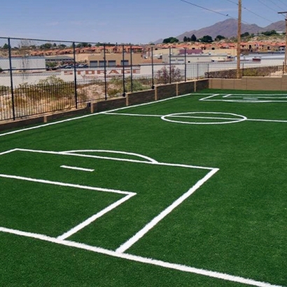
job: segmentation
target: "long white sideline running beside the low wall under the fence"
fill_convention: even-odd
[[[191,93],[190,93],[191,94]],[[186,96],[189,96],[190,94],[182,94],[181,96],[176,96],[176,97],[170,97],[170,98],[167,98],[167,99],[160,99],[158,101],[155,101],[155,102],[149,102],[149,103],[144,103],[144,104],[138,104],[138,105],[134,105],[134,106],[125,106],[123,108],[120,108],[120,109],[113,109],[111,110],[110,112],[113,112],[113,111],[120,111],[120,110],[123,110],[123,109],[130,109],[130,108],[134,108],[134,107],[137,107],[137,106],[146,106],[146,105],[149,105],[149,104],[157,104],[157,103],[160,103],[160,102],[165,102],[165,101],[169,101],[169,100],[172,100],[172,99],[178,99],[178,98],[181,98],[181,97],[186,97]],[[109,111],[102,111],[102,112],[99,112],[99,113],[91,113],[90,115],[85,115],[85,116],[79,116],[79,117],[76,117],[76,118],[68,118],[66,120],[59,120],[57,122],[53,122],[53,123],[46,123],[46,124],[43,124],[43,125],[37,125],[35,127],[26,127],[24,129],[21,129],[21,130],[14,130],[12,132],[6,132],[6,133],[3,133],[3,134],[0,134],[0,137],[5,137],[7,136],[8,134],[16,134],[18,132],[25,132],[27,130],[34,130],[34,129],[39,129],[41,127],[48,127],[49,125],[58,125],[60,123],[66,123],[66,122],[69,122],[71,120],[80,120],[81,118],[87,118],[87,117],[90,117],[90,116],[97,116],[97,115],[101,115],[101,114],[109,114]]]

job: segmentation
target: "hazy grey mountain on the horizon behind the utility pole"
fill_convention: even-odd
[[[228,19],[222,22],[217,22],[216,24],[205,27],[199,30],[191,30],[186,31],[183,34],[179,36],[175,36],[175,38],[178,38],[179,41],[183,41],[183,38],[186,36],[190,38],[193,36],[193,34],[197,38],[202,38],[203,36],[211,36],[212,38],[216,38],[216,36],[221,35],[225,36],[225,38],[231,38],[237,36],[237,20],[235,19]],[[285,31],[285,20],[274,22],[271,25],[268,25],[267,27],[259,27],[258,25],[252,24],[247,25],[244,23],[241,23],[241,34],[244,34],[245,32],[248,32],[249,34],[260,34],[260,32],[264,31]],[[171,35],[172,36],[172,35]],[[162,43],[162,39],[159,39],[158,41],[155,41],[153,43]]]

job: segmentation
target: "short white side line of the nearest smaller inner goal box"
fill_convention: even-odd
[[[118,201],[114,202],[113,204],[109,205],[109,207],[106,207],[102,211],[99,211],[97,214],[94,214],[90,218],[87,218],[87,220],[83,221],[83,223],[80,223],[79,225],[75,226],[74,228],[72,228],[68,232],[65,232],[63,235],[60,235],[59,237],[57,237],[57,239],[64,240],[64,239],[70,237],[71,235],[74,235],[76,232],[82,230],[87,225],[89,225],[90,223],[94,222],[97,218],[100,218],[101,216],[104,216],[104,214],[106,214],[109,211],[115,209],[116,207],[118,207],[123,202],[125,202],[127,200],[130,200],[130,198],[133,197],[134,195],[135,195],[135,193],[132,193],[130,195],[127,195],[127,196],[121,198],[120,200],[118,200]]]

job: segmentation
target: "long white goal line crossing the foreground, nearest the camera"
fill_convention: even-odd
[[[80,248],[86,251],[92,251],[95,253],[110,255],[116,258],[122,258],[125,260],[131,260],[134,262],[141,262],[144,264],[151,264],[151,265],[160,266],[164,268],[175,269],[175,270],[179,270],[182,272],[189,272],[193,274],[199,274],[202,276],[209,276],[214,279],[223,279],[225,281],[232,281],[232,282],[247,284],[251,286],[258,286],[258,287],[283,287],[279,285],[273,285],[267,282],[255,281],[253,279],[246,279],[240,276],[233,276],[233,275],[229,275],[225,273],[209,271],[206,269],[199,269],[199,268],[190,267],[187,265],[174,264],[174,263],[165,262],[162,260],[145,258],[145,257],[137,256],[137,255],[128,254],[128,253],[117,253],[109,249],[99,248],[96,246],[89,246],[87,244],[81,244],[81,243],[74,242],[74,241],[61,240],[61,239],[57,239],[54,237],[48,237],[46,235],[38,235],[36,233],[31,233],[31,232],[23,232],[20,230],[13,230],[10,228],[2,228],[2,227],[0,227],[0,232],[6,232],[6,233],[13,234],[13,235],[20,235],[24,237],[33,238],[33,239],[39,239],[39,240],[48,241],[48,242],[55,243],[55,244],[61,244],[63,246],[69,246],[73,248]]]

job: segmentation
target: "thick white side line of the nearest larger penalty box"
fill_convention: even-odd
[[[216,172],[218,172],[218,170],[219,169],[212,169],[206,176],[200,179],[200,181],[197,181],[197,183],[195,183],[195,186],[193,186],[192,188],[190,188],[190,190],[181,195],[181,197],[179,197],[175,202],[169,205],[167,209],[165,209],[158,216],[153,218],[153,220],[150,221],[143,229],[139,230],[139,232],[137,232],[132,238],[130,238],[119,248],[117,248],[116,252],[123,253],[133,244],[139,241],[141,237],[143,237],[149,230],[151,230],[155,225],[157,225],[160,221],[162,221],[162,219],[165,218],[165,216],[167,216],[168,214],[170,214],[176,207],[178,207],[179,204],[181,204],[184,200],[190,197],[190,195],[192,195],[195,192],[195,190],[200,188],[200,186],[202,186],[202,184],[204,184],[208,179],[210,179],[211,176],[213,176]]]

